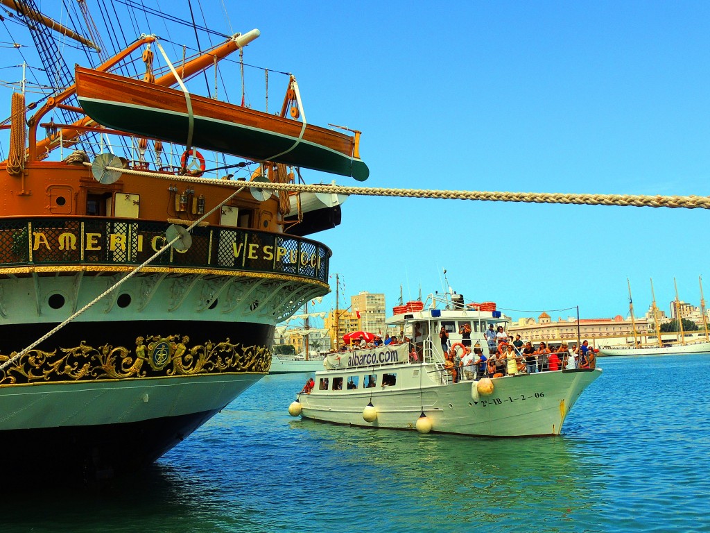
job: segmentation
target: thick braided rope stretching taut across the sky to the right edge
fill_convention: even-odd
[[[91,166],[91,163],[84,163]],[[518,203],[559,203],[573,205],[617,205],[636,208],[684,208],[710,209],[710,196],[664,196],[664,195],[621,195],[621,194],[577,194],[577,193],[506,193],[486,190],[432,190],[395,189],[378,187],[344,187],[343,185],[307,185],[299,183],[263,183],[215,180],[175,176],[157,172],[136,171],[131,168],[107,167],[109,171],[119,171],[133,176],[160,178],[168,181],[186,181],[224,187],[253,187],[264,190],[293,190],[300,193],[335,193],[351,196],[391,196],[399,198],[439,198],[442,200],[480,200],[488,202]]]

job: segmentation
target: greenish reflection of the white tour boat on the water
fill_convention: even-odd
[[[552,522],[546,530],[556,531],[560,518],[586,515],[594,501],[586,474],[599,471],[599,462],[584,441],[564,436],[420,435],[314,421],[292,425],[322,443],[324,456],[337,455],[352,478],[371,481],[369,502],[398,502],[402,516],[389,517],[395,529],[413,525],[406,520],[410,515],[406,510],[417,519],[422,519],[422,510],[430,510],[446,517],[451,527],[474,517],[476,522],[496,522],[496,529],[501,529],[501,521],[515,527],[527,515],[547,516]]]

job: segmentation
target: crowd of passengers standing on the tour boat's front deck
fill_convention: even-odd
[[[464,335],[460,350],[456,345],[449,348],[448,333],[445,328],[439,332],[442,351],[446,359],[447,371],[452,375],[454,383],[461,379],[481,379],[482,377],[503,377],[536,372],[555,372],[557,370],[573,370],[576,368],[594,368],[596,357],[594,350],[584,341],[578,347],[567,343],[550,346],[540,342],[537,348],[532,342],[523,342],[520,335],[510,340],[502,326],[493,330],[491,325],[486,331],[488,355],[485,355],[478,343],[471,350],[469,335]],[[466,338],[468,337],[468,338]],[[416,354],[416,350],[413,350]]]

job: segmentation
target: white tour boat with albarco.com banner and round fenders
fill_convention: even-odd
[[[454,382],[439,341],[440,328],[449,332],[452,349],[460,350],[468,342],[458,332],[468,324],[473,347],[480,346],[487,356],[488,326],[505,327],[510,318],[490,302],[464,305],[459,294],[430,295],[426,303],[420,303],[419,311],[395,308],[398,314],[387,320],[399,329],[398,338],[411,343],[328,355],[325,370],[316,372],[312,389],[297,394],[289,413],[422,433],[557,435],[581,392],[601,375],[599,369],[574,369]]]

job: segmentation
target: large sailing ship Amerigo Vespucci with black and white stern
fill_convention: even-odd
[[[223,65],[244,69],[224,59],[241,57],[257,30],[171,58],[146,28],[109,53],[99,36],[119,42],[117,28],[94,21],[160,14],[64,3],[60,19],[82,36],[32,0],[0,4],[31,34],[50,77],[23,77],[3,123],[0,445],[18,454],[4,472],[111,477],[151,463],[266,375],[275,325],[329,292],[331,252],[305,235],[337,225],[341,202],[324,195],[308,217],[299,198],[239,185],[300,178],[290,165],[363,179],[359,132],[307,128],[292,76],[278,116],[246,109],[244,92],[241,105],[197,97],[205,70],[217,83]],[[77,99],[60,45],[84,53],[77,72],[92,79],[90,95]],[[131,100],[158,94],[180,102],[156,99],[162,118]],[[108,118],[89,111],[97,95],[112,99]],[[214,109],[218,125],[196,114]],[[170,115],[170,133],[155,129]],[[230,131],[244,151],[215,141]]]

